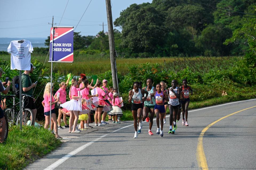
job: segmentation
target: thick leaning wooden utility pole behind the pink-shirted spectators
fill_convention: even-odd
[[[110,51],[113,87],[117,89],[119,94],[118,79],[117,79],[117,63],[115,60],[116,52],[115,52],[115,41],[114,41],[114,31],[113,31],[113,20],[112,20],[110,0],[106,0],[106,8],[107,8],[107,26],[109,30],[109,51]]]

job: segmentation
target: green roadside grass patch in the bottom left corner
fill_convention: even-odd
[[[49,130],[23,126],[9,129],[5,144],[0,145],[0,169],[23,169],[61,144]]]

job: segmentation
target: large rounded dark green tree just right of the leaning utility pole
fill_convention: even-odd
[[[164,17],[149,5],[131,12],[122,30],[122,46],[134,53],[154,53],[165,38]]]

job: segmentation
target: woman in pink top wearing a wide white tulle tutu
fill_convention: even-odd
[[[80,81],[81,79],[79,79]],[[83,82],[82,82],[83,83]],[[70,118],[69,118],[69,133],[80,133],[79,130],[76,130],[77,127],[77,121],[78,121],[78,116],[79,116],[79,111],[82,111],[81,106],[78,104],[78,99],[82,98],[81,96],[78,96],[78,90],[82,90],[81,88],[75,88],[77,86],[78,82],[76,78],[73,78],[71,80],[71,87],[70,87],[70,92],[69,92],[69,96],[70,96],[70,101],[67,101],[64,104],[61,104],[61,107],[67,109],[70,111]],[[83,85],[83,88],[85,86]],[[74,118],[74,124],[72,122]],[[73,130],[71,129],[73,125]],[[72,130],[72,131],[71,131]]]

